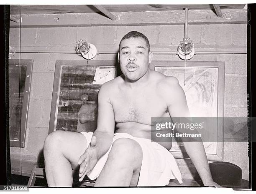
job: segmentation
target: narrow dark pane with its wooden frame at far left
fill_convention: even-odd
[[[24,147],[33,60],[9,60],[10,147]]]

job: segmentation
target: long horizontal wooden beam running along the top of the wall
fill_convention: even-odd
[[[223,10],[223,17],[213,10],[189,10],[188,24],[246,24],[247,10]],[[143,26],[184,25],[184,10],[150,12],[114,12],[116,20],[99,13],[21,15],[21,27],[86,27],[86,26]],[[15,15],[13,15],[15,16]],[[17,15],[17,17],[19,17]],[[10,21],[10,27],[19,27]]]

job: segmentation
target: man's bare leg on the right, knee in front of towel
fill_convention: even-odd
[[[95,187],[137,186],[142,163],[141,146],[133,139],[117,139]]]

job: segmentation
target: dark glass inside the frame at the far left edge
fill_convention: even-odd
[[[11,141],[20,141],[20,118],[26,71],[26,65],[9,65],[9,129]]]

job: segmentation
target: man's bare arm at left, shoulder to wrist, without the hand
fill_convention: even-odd
[[[102,85],[98,94],[97,129],[93,133],[93,136],[97,139],[98,159],[108,152],[114,137],[115,119],[114,110],[108,95],[109,91],[110,83],[106,83]]]

